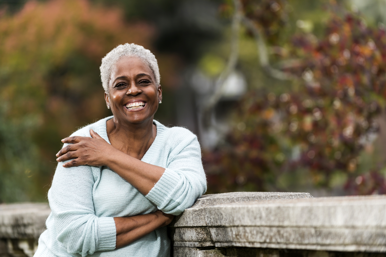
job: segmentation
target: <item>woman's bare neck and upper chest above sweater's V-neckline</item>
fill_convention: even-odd
[[[157,128],[153,117],[140,124],[127,124],[117,119],[109,119],[106,123],[107,136],[112,146],[139,160],[156,138]]]

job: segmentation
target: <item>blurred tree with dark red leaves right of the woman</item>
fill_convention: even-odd
[[[347,193],[386,193],[383,166],[357,170],[385,106],[384,28],[368,27],[332,3],[323,34],[283,40],[275,32],[285,27],[288,2],[234,3],[223,8],[233,17],[239,12],[244,33],[256,42],[258,68],[287,86],[255,89],[239,102],[226,140],[204,156],[210,190],[285,190],[283,180],[330,188],[340,176]]]

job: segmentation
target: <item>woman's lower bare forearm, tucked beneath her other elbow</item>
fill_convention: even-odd
[[[161,211],[132,217],[115,217],[114,221],[117,230],[115,248],[130,244],[157,228],[168,225],[173,220],[173,217],[173,215],[168,215]]]

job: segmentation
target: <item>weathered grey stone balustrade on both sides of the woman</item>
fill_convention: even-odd
[[[32,256],[49,213],[44,203],[0,205],[0,257]],[[380,257],[386,196],[204,195],[174,218],[169,237],[173,257]]]

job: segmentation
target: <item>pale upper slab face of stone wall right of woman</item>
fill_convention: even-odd
[[[386,227],[386,196],[323,197],[215,205],[205,209],[209,227]]]

